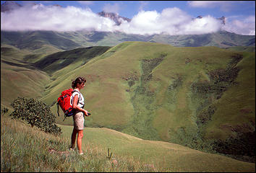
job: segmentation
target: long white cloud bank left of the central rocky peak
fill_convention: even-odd
[[[111,19],[99,17],[90,9],[74,6],[28,6],[10,13],[1,12],[1,30],[98,30],[111,31]]]

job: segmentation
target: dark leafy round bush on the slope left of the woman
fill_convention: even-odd
[[[61,128],[55,124],[56,116],[51,112],[50,107],[44,102],[36,99],[18,97],[12,102],[14,111],[10,114],[13,118],[27,121],[31,127],[38,127],[46,133],[59,135]]]

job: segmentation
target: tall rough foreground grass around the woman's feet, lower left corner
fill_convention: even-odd
[[[116,156],[90,143],[85,155],[69,151],[69,139],[1,117],[1,172],[153,172],[155,167]]]

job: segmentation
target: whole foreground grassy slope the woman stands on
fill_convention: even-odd
[[[69,151],[72,126],[60,127],[56,137],[1,115],[1,172],[255,172],[254,163],[107,128],[85,128],[79,156]]]

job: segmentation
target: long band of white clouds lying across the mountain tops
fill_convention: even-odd
[[[118,8],[118,6],[114,7]],[[246,28],[249,30],[245,30],[244,26],[247,26]],[[255,34],[252,21],[227,22],[227,25],[223,27],[221,21],[214,17],[193,18],[176,7],[163,9],[161,13],[140,11],[132,18],[131,22],[123,20],[121,25],[116,25],[113,20],[93,13],[89,8],[82,9],[74,6],[61,7],[34,4],[33,6],[22,6],[10,12],[1,12],[1,30],[95,30],[103,32],[120,31],[140,35],[161,33],[187,35],[217,32],[221,29],[243,35]]]

